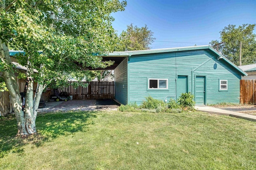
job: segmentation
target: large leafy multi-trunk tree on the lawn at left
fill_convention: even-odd
[[[95,53],[112,51],[116,35],[110,14],[124,6],[126,2],[118,0],[0,0],[0,69],[10,92],[18,135],[36,133],[37,109],[48,84],[60,85],[72,73],[81,78],[90,74],[78,65],[104,68],[112,64],[102,62]],[[24,111],[9,48],[25,51],[16,56],[27,67],[29,80]],[[34,74],[34,69],[39,73]],[[38,82],[34,98],[33,81]]]

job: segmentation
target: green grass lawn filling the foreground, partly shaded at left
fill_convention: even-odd
[[[38,115],[17,139],[0,117],[0,169],[256,169],[256,122],[208,113]]]

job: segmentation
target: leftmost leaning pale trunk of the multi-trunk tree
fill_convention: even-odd
[[[0,39],[0,57],[1,62],[6,65],[6,69],[2,72],[6,86],[10,92],[10,99],[14,109],[14,113],[17,119],[18,133],[17,135],[28,135],[25,127],[25,117],[24,112],[22,111],[22,101],[14,75],[14,70],[12,68],[12,61],[10,59],[8,47],[2,43]]]

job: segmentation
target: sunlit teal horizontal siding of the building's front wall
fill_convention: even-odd
[[[194,94],[195,76],[206,76],[206,104],[239,103],[241,75],[216,57],[208,49],[131,56],[129,102],[141,104],[147,96],[176,99],[177,76],[188,76],[188,92]],[[168,78],[168,90],[148,90],[148,78]],[[219,92],[219,79],[228,80],[227,92]]]

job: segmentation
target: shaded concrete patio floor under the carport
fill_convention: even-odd
[[[38,113],[55,111],[92,111],[117,110],[119,104],[111,99],[102,100],[68,100],[67,102],[47,102],[46,107],[39,106]]]

